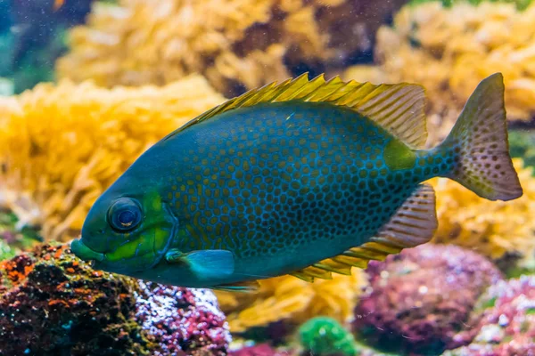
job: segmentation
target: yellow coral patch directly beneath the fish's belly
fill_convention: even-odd
[[[364,271],[352,272],[352,276],[333,274],[333,279],[316,279],[314,283],[292,276],[264,279],[259,281],[257,294],[216,293],[233,332],[277,320],[300,323],[317,315],[345,322],[352,317],[358,295],[366,286]]]

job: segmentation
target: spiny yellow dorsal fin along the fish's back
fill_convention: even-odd
[[[308,73],[280,84],[271,83],[230,99],[193,118],[164,140],[191,125],[231,109],[251,107],[261,102],[292,100],[324,101],[354,109],[383,126],[413,149],[423,147],[427,140],[425,94],[421,85],[373,85],[355,81],[344,82],[340,77],[325,81],[323,75],[309,80]]]

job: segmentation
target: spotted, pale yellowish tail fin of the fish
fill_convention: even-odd
[[[475,88],[440,150],[454,158],[446,176],[480,197],[511,200],[522,196],[509,156],[501,73],[483,79]]]

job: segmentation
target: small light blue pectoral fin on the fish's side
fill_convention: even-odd
[[[182,253],[171,249],[165,255],[169,263],[185,263],[193,273],[204,279],[228,276],[234,272],[235,262],[232,252],[227,250],[199,250]]]

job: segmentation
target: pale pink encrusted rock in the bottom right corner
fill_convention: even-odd
[[[444,356],[535,355],[535,277],[499,281],[481,297],[474,314],[479,333],[473,343]]]

